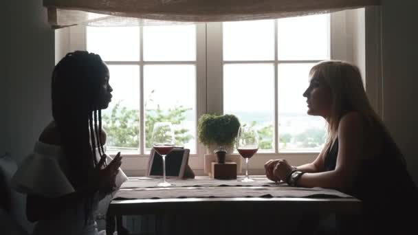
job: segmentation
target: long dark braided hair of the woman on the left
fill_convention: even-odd
[[[102,144],[102,115],[99,107],[100,86],[107,76],[107,66],[97,54],[69,53],[52,74],[52,115],[69,163],[69,181],[75,190],[85,185],[89,173],[105,157]],[[84,201],[85,223],[92,211],[93,197]]]

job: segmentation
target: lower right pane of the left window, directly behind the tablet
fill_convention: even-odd
[[[144,66],[145,144],[148,152],[155,122],[172,122],[176,144],[196,153],[195,65]]]

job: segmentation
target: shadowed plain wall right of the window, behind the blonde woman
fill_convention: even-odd
[[[418,1],[382,1],[383,115],[418,183]],[[390,177],[390,169],[388,177]],[[383,172],[384,174],[384,172]]]

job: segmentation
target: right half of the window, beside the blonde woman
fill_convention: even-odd
[[[329,48],[327,14],[223,23],[223,112],[256,126],[260,153],[322,148],[325,122],[302,93]]]

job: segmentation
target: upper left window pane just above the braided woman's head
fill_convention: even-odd
[[[105,61],[140,60],[140,28],[87,27],[87,50]]]

